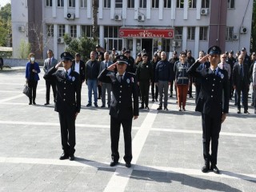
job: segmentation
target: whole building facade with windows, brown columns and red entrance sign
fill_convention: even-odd
[[[65,49],[63,35],[92,37],[93,0],[11,1],[14,58],[22,39],[39,58]],[[250,50],[253,0],[98,0],[99,44],[135,57],[164,50]],[[58,58],[58,57],[56,57]]]

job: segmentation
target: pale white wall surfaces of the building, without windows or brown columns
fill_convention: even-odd
[[[14,58],[18,58],[18,47],[20,44],[20,40],[23,38],[27,41],[26,31],[20,32],[18,31],[18,26],[26,26],[28,20],[28,13],[26,7],[26,0],[11,0],[12,8],[12,21],[13,21],[13,47],[14,47]],[[40,0],[38,0],[40,1]],[[43,1],[43,0],[41,0]],[[92,2],[91,0],[87,0],[86,8],[80,7],[80,1],[76,0],[77,6],[75,8],[70,8],[67,5],[67,1],[64,1],[64,7],[57,7],[57,1],[54,1],[53,7],[46,7],[45,2],[43,1],[42,13],[43,13],[43,22],[42,26],[46,27],[47,23],[54,24],[54,38],[49,44],[46,45],[47,48],[54,49],[55,55],[60,54],[62,50],[64,50],[65,46],[63,44],[57,44],[58,39],[58,25],[64,24],[66,25],[66,32],[69,32],[70,25],[78,25],[78,35],[81,34],[80,27],[82,25],[92,25]],[[99,1],[99,13],[98,13],[98,25],[100,29],[100,44],[104,45],[104,26],[139,26],[146,27],[152,26],[154,28],[166,26],[166,27],[175,27],[175,26],[196,26],[196,38],[194,41],[188,42],[186,40],[187,33],[186,30],[183,31],[183,39],[182,39],[182,47],[178,48],[178,50],[186,50],[191,49],[195,54],[198,54],[199,50],[207,50],[208,42],[207,41],[199,41],[199,27],[200,26],[209,26],[210,15],[201,15],[200,10],[201,7],[197,9],[189,9],[188,0],[185,2],[184,9],[176,8],[176,0],[171,0],[172,7],[171,9],[163,8],[162,2],[159,2],[159,9],[151,9],[148,5],[146,8],[138,7],[138,0],[134,0],[135,7],[131,9],[126,9],[126,1],[124,1],[123,9],[115,9],[114,8],[114,0],[111,0],[111,8],[103,7],[103,0]],[[147,3],[150,2],[147,0]],[[202,0],[198,0],[197,5],[201,5]],[[247,3],[248,10],[246,10]],[[252,15],[252,7],[253,1],[244,0],[244,1],[235,1],[236,9],[229,9],[227,13],[227,26],[234,26],[234,34],[239,35],[238,41],[230,41],[226,42],[226,50],[240,50],[242,46],[245,46],[247,50],[250,50],[250,32],[251,32],[251,15]],[[149,3],[148,3],[149,4]],[[74,20],[67,20],[66,14],[71,13],[75,14]],[[114,20],[115,14],[122,14],[122,21]],[[138,22],[138,15],[144,14],[145,21]],[[242,18],[244,20],[242,21]],[[246,27],[247,33],[240,34],[240,27]],[[46,29],[44,29],[46,31]],[[134,41],[136,38],[134,38]],[[123,46],[125,46],[126,39],[123,41]],[[57,44],[57,45],[56,45]],[[136,46],[136,44],[134,44]],[[170,50],[172,51],[172,50]]]

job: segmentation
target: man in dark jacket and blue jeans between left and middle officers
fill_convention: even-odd
[[[95,52],[90,52],[90,60],[86,62],[86,85],[88,86],[88,104],[91,106],[92,91],[94,91],[94,106],[98,107],[97,78],[99,74],[100,63],[95,59]]]

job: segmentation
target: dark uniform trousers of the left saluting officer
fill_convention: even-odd
[[[72,114],[58,113],[61,125],[62,150],[72,156],[75,146],[75,118]]]

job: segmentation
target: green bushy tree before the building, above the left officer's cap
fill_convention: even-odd
[[[94,50],[98,43],[98,41],[87,37],[70,38],[68,34],[65,34],[63,39],[66,44],[65,51],[70,52],[72,55],[80,53],[84,61],[90,59],[90,51]]]

